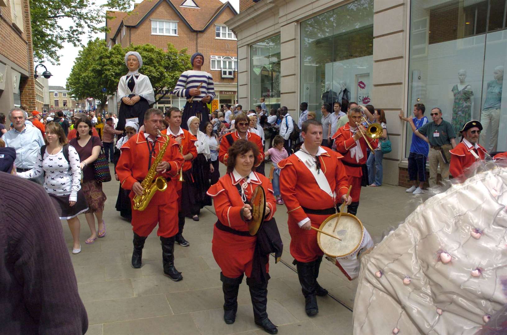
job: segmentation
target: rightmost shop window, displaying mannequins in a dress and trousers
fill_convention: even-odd
[[[456,132],[480,120],[488,152],[507,150],[506,17],[506,0],[413,0],[407,114],[423,103],[431,120],[429,111],[439,107]],[[406,156],[411,138],[407,131]]]

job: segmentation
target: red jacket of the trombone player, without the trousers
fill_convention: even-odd
[[[359,159],[357,162],[355,160],[355,156],[350,156],[350,149],[356,146],[355,140],[352,138],[353,135],[354,134],[350,131],[350,124],[346,123],[342,128],[338,129],[331,138],[336,141],[336,150],[343,155],[344,161],[352,164],[366,164],[366,161],[368,159],[368,155],[366,153],[368,144],[366,144],[364,137],[361,136],[361,138],[359,138],[361,151],[363,151],[363,158]],[[369,137],[367,137],[367,139],[373,149],[375,149],[378,145],[377,140],[373,140]],[[363,170],[360,167],[345,165],[345,170],[347,171],[347,175],[349,177],[363,176]]]

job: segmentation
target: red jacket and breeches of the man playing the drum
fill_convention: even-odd
[[[325,210],[335,207],[347,194],[348,181],[345,168],[340,161],[343,156],[324,148],[326,152],[319,155],[321,172],[328,180],[331,190],[336,193],[335,200],[321,190],[315,177],[297,155],[291,155],[278,163],[280,171],[280,193],[287,207],[288,231],[291,234],[291,255],[299,262],[311,262],[322,256],[317,244],[317,232],[299,227],[298,222],[309,218],[311,225],[319,228],[322,221],[329,215],[306,214],[303,207],[312,210]]]

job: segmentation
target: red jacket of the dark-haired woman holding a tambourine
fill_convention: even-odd
[[[241,186],[245,183],[245,180],[239,175],[235,176],[234,173],[226,174],[208,189],[207,194],[213,197],[216,216],[223,225],[238,231],[248,231],[248,225],[245,221],[241,220],[239,214],[244,203],[236,187],[238,183]],[[271,220],[276,212],[276,199],[273,195],[271,182],[263,175],[252,172],[248,184],[249,185],[245,189],[247,199],[250,199],[253,190],[255,190],[258,185],[261,185],[266,192],[266,206],[268,206],[271,211],[264,221]],[[256,241],[257,236],[239,236],[222,231],[216,227],[213,229],[212,243],[215,247],[223,250],[237,251],[250,248],[253,249]]]

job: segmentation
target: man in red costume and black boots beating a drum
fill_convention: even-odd
[[[348,178],[342,164],[343,156],[322,147],[322,124],[314,119],[303,122],[301,150],[278,163],[280,192],[288,213],[291,234],[291,255],[298,268],[298,277],[305,310],[309,316],[318,313],[317,296],[325,296],[317,277],[322,250],[317,244],[317,232],[330,215],[336,213],[337,202],[350,204],[347,196]],[[366,160],[365,160],[366,162]]]

